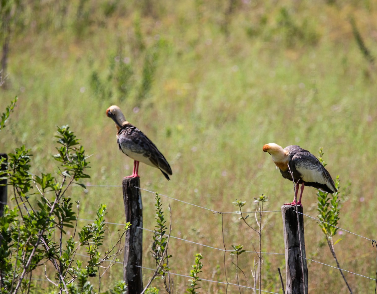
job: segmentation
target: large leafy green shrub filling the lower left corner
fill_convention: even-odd
[[[118,261],[116,256],[122,251],[121,239],[130,223],[121,230],[115,245],[100,251],[106,232],[106,205],[100,205],[92,224],[77,228],[80,201],[76,201],[75,212],[72,199],[65,194],[72,183],[89,178],[89,162],[69,126],[58,128],[56,137],[60,146],[53,158],[60,163],[58,177],[31,174],[32,154],[25,146],[8,155],[8,169],[1,175],[12,186],[16,203],[14,209],[5,206],[0,217],[0,234],[5,240],[0,242],[0,288],[4,293],[29,292],[32,272],[38,266],[44,266],[46,279],[59,293],[93,293],[88,279],[98,276],[101,285],[104,272]],[[74,229],[70,237],[66,236],[67,228]],[[85,263],[77,259],[83,246],[88,254]],[[47,274],[48,264],[54,268],[54,279]],[[126,289],[120,282],[110,292],[124,293]]]

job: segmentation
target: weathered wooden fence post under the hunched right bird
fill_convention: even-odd
[[[287,294],[308,294],[308,266],[305,253],[304,221],[302,207],[283,205],[283,229],[285,247],[285,271],[287,272]],[[300,242],[301,241],[301,242]],[[301,244],[301,248],[300,248]],[[301,258],[301,256],[303,258]]]

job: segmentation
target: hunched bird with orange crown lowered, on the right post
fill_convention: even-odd
[[[291,203],[284,205],[300,205],[304,186],[312,186],[322,192],[333,194],[338,190],[329,172],[320,163],[320,161],[308,150],[302,149],[297,145],[285,147],[275,143],[265,144],[263,151],[272,155],[272,160],[280,173],[285,179],[294,181],[294,199]],[[297,201],[297,192],[301,184],[299,201]]]

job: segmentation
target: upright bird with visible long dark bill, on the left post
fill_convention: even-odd
[[[170,180],[169,175],[172,175],[172,169],[164,155],[143,132],[127,122],[120,108],[112,105],[106,109],[106,115],[115,122],[119,149],[134,160],[132,175],[124,179],[139,177],[139,162],[143,162],[158,168],[166,179]]]

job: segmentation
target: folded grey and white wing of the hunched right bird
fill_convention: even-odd
[[[301,178],[304,182],[326,185],[331,191],[337,191],[329,172],[309,151],[303,150],[297,152],[293,155],[291,161],[301,174]]]

